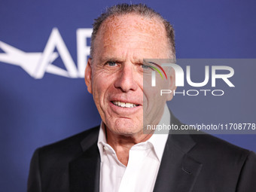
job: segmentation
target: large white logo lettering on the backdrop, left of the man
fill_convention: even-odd
[[[92,32],[92,29],[77,29],[78,67],[75,65],[59,30],[56,28],[53,28],[44,51],[41,53],[26,53],[0,41],[0,48],[5,51],[5,53],[0,53],[0,62],[20,66],[36,79],[43,78],[45,72],[67,78],[84,78],[87,56],[90,55],[87,38],[90,38]],[[57,52],[54,50],[57,50]],[[53,64],[58,56],[62,59],[66,70]]]

